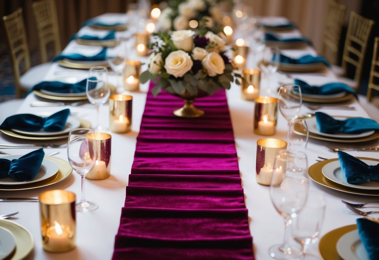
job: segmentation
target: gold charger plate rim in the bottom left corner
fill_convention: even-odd
[[[8,229],[16,240],[16,252],[14,252],[10,260],[21,260],[27,257],[34,247],[34,240],[30,231],[20,224],[6,219],[0,220],[0,227]]]

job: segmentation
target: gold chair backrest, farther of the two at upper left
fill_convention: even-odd
[[[34,19],[36,20],[39,52],[41,63],[47,62],[47,45],[54,44],[54,55],[61,51],[58,17],[56,14],[55,0],[41,0],[32,5]]]

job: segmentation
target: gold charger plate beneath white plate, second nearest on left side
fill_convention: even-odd
[[[60,182],[60,181],[66,179],[67,177],[70,176],[70,174],[72,172],[72,167],[67,161],[65,161],[61,158],[56,158],[56,157],[52,157],[52,156],[45,156],[45,159],[53,161],[56,164],[58,164],[59,171],[58,171],[58,174],[55,175],[55,178],[50,178],[50,179],[44,180],[42,182],[35,182],[35,183],[31,183],[30,185],[23,185],[23,186],[0,185],[0,190],[2,190],[2,191],[19,191],[19,190],[30,190],[30,189],[35,189],[35,188],[41,188],[41,187],[49,186],[49,185],[55,184],[57,182]]]

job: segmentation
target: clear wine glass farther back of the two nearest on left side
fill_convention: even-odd
[[[96,130],[102,130],[99,125],[99,108],[109,99],[111,94],[108,84],[108,69],[104,66],[91,67],[89,70],[86,94],[89,102],[96,106]]]

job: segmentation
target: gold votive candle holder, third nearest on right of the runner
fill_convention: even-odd
[[[258,69],[242,70],[241,98],[254,100],[259,96],[261,71]]]

